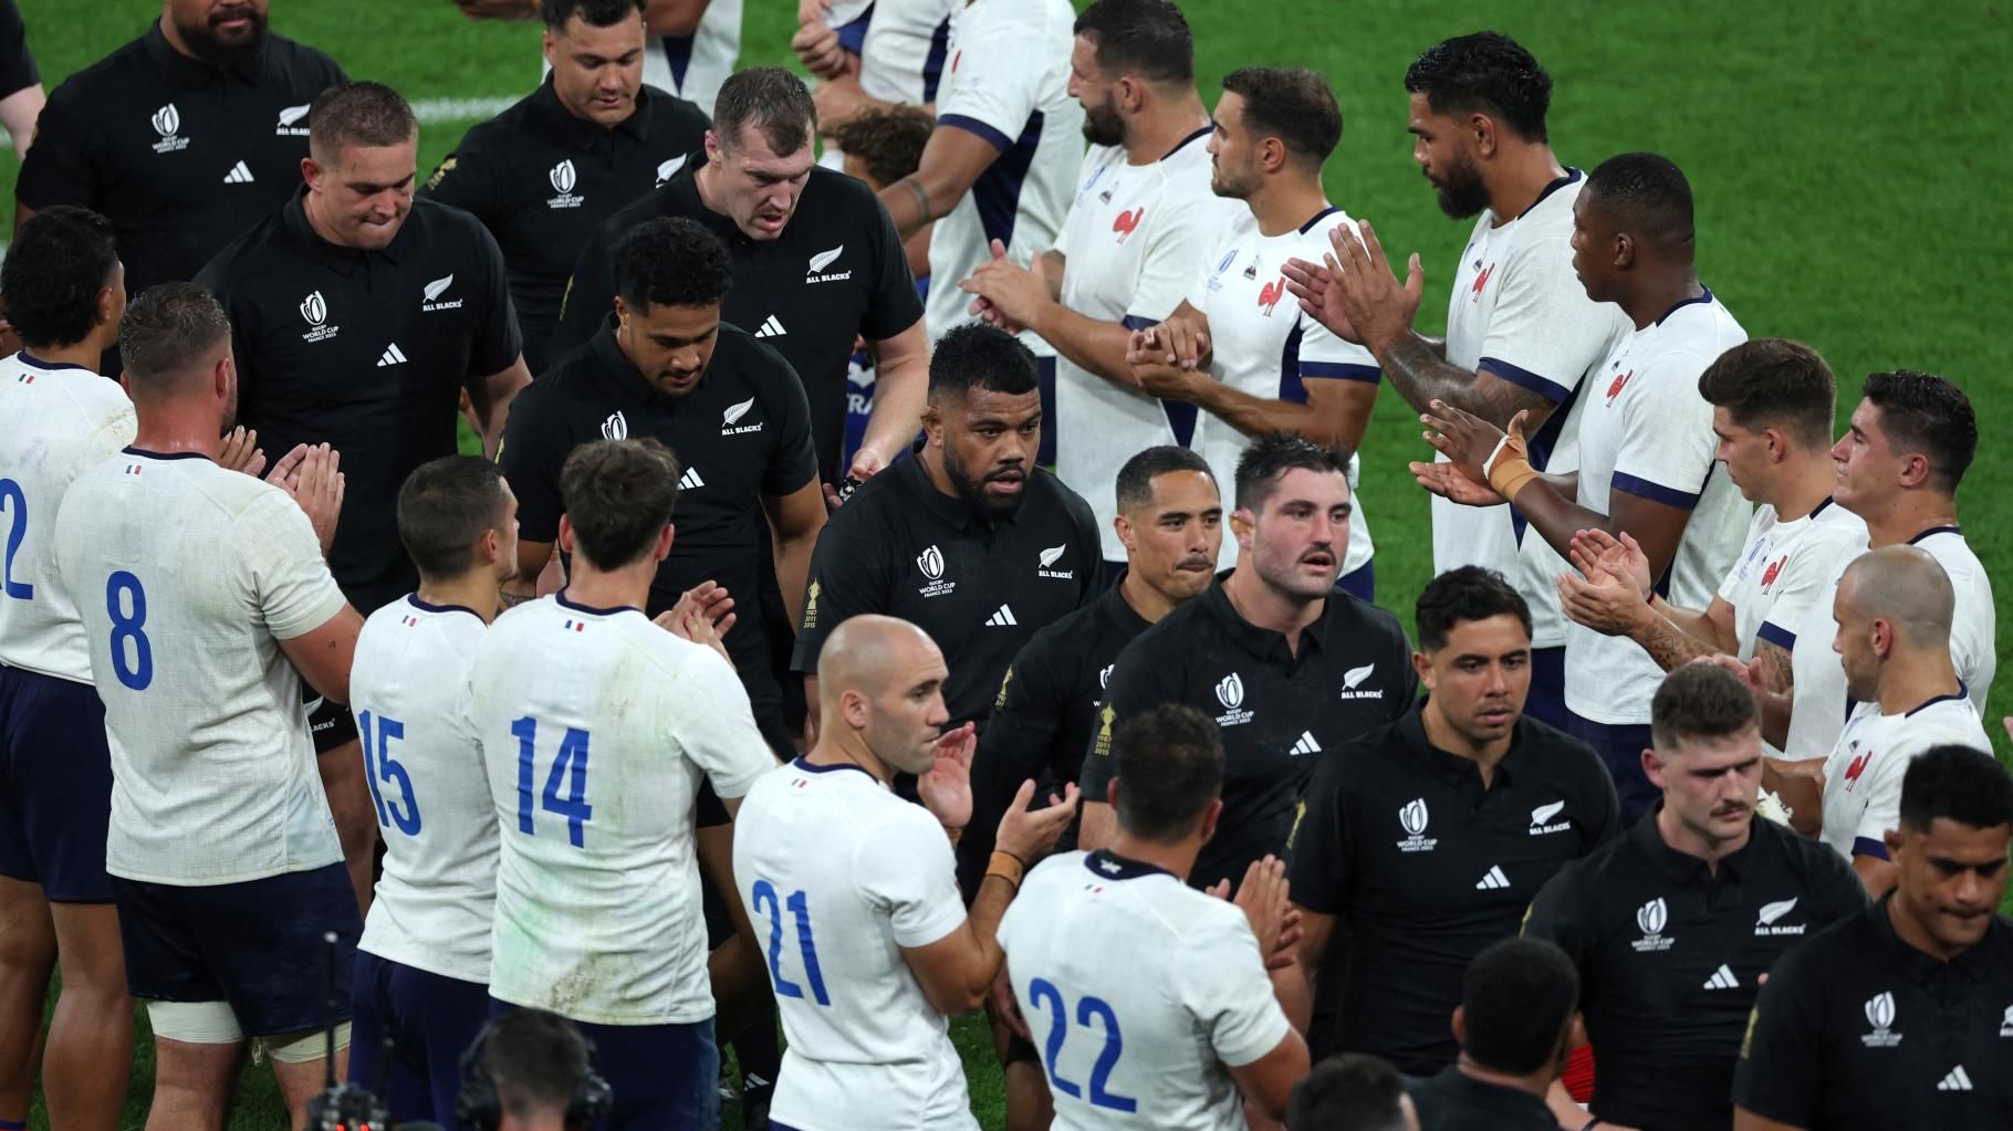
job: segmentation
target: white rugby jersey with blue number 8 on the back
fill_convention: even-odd
[[[195,887],[340,861],[280,640],[344,600],[294,499],[197,453],[129,447],[70,485],[56,568],[105,700],[105,869]]]

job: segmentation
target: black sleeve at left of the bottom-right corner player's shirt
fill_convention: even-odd
[[[1775,960],[1733,1069],[1733,1103],[1775,1123],[1816,1127],[1824,1113],[1824,992],[1800,952]]]

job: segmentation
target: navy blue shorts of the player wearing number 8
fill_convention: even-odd
[[[246,1036],[284,1036],[328,1022],[328,954],[336,934],[336,1020],[350,1016],[356,890],[340,863],[244,883],[183,887],[113,877],[127,988],[153,1002],[229,1002]]]

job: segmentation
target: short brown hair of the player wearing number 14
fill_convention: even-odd
[[[596,570],[640,561],[678,505],[678,459],[654,439],[580,445],[560,467],[574,547]]]

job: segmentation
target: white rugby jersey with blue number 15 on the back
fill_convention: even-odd
[[[384,875],[360,950],[443,978],[489,982],[497,815],[469,718],[469,664],[489,626],[417,594],[370,614],[350,710],[384,835]]]

